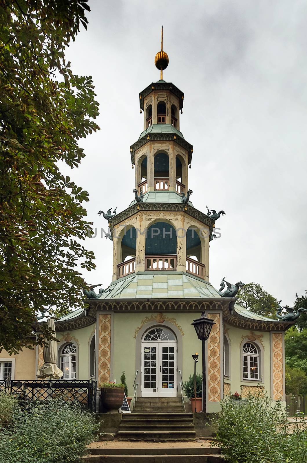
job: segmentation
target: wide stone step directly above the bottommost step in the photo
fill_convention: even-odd
[[[210,444],[205,443],[202,447],[163,447],[163,448],[101,448],[90,449],[91,455],[217,455],[220,449],[210,447]]]

